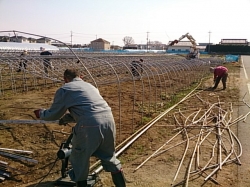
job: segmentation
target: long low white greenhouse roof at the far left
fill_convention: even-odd
[[[17,42],[0,42],[0,50],[14,50],[14,51],[40,51],[43,47],[49,51],[58,51],[59,48],[53,45],[44,43],[17,43]]]

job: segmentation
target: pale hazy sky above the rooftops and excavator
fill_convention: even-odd
[[[168,43],[187,32],[197,43],[250,41],[249,24],[250,0],[0,0],[0,31],[68,43],[103,38],[123,46],[125,36]]]

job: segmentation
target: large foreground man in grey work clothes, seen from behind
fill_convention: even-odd
[[[69,176],[78,187],[87,186],[91,156],[99,158],[104,170],[111,172],[116,187],[125,187],[122,166],[115,156],[116,128],[111,108],[98,89],[79,76],[77,70],[67,69],[65,84],[56,91],[51,107],[34,113],[42,120],[60,119],[60,125],[76,122],[69,157],[73,169]],[[65,114],[67,110],[69,113]]]

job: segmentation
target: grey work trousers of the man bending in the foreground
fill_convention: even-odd
[[[69,171],[71,180],[77,182],[88,178],[91,156],[99,158],[107,172],[121,170],[121,163],[115,156],[115,131],[115,122],[109,113],[82,118],[73,130],[69,157],[73,167]]]

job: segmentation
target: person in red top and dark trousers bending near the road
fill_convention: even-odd
[[[223,85],[223,90],[227,88],[227,77],[228,77],[228,69],[224,66],[217,66],[215,68],[210,67],[210,72],[214,73],[214,86],[212,90],[215,90],[220,83],[220,80]]]

